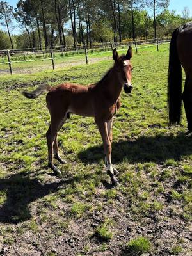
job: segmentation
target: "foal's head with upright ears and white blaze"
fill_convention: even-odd
[[[115,60],[115,70],[118,72],[118,78],[120,79],[120,83],[124,85],[125,93],[131,93],[132,91],[132,83],[131,83],[131,71],[132,65],[130,63],[130,59],[132,57],[132,48],[129,46],[126,55],[122,55],[118,57],[118,53],[116,48],[113,49],[113,60]]]

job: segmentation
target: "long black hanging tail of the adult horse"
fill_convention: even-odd
[[[170,42],[170,60],[168,68],[168,118],[169,124],[180,123],[182,106],[182,68],[177,52],[177,35],[182,27],[173,31]]]

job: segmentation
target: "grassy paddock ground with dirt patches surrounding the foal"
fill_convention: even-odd
[[[192,139],[185,116],[167,126],[168,47],[132,58],[134,89],[122,92],[113,126],[120,186],[111,187],[93,118],[70,117],[59,134],[68,164],[61,178],[47,169],[45,95],[29,100],[22,90],[95,83],[112,64],[106,54],[92,65],[1,75],[1,255],[191,255]]]

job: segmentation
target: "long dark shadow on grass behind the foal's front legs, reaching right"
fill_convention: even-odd
[[[120,163],[155,162],[161,163],[167,159],[179,161],[182,156],[192,154],[192,138],[183,133],[173,136],[141,136],[135,141],[120,141],[112,144],[112,161]],[[104,157],[102,145],[96,145],[81,151],[78,157],[84,163],[94,163]]]

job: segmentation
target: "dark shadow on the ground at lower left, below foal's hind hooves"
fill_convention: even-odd
[[[1,191],[6,191],[6,201],[0,205],[1,223],[19,223],[31,218],[28,204],[54,193],[71,182],[71,179],[40,184],[37,179],[30,179],[26,174],[15,174],[0,179]]]

